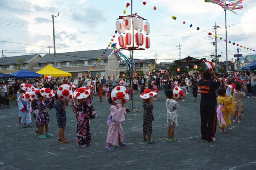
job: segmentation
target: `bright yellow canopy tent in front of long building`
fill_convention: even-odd
[[[44,68],[42,68],[41,70],[39,70],[37,72],[38,74],[43,74],[44,77],[50,75],[52,77],[67,77],[67,76],[71,76],[70,72],[66,72],[66,71],[62,71],[59,70],[53,66],[50,66],[50,64],[48,64],[47,66],[45,66]]]

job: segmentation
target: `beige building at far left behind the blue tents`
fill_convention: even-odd
[[[35,62],[41,57],[40,54],[34,54],[0,58],[0,72],[10,74],[22,69],[33,71],[33,68],[37,66]]]

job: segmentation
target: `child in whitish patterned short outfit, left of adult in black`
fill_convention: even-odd
[[[175,142],[178,139],[174,138],[174,129],[178,126],[177,121],[177,112],[180,109],[180,105],[178,104],[178,98],[174,98],[172,90],[168,89],[166,91],[166,109],[167,109],[167,141]]]

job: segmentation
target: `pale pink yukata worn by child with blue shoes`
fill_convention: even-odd
[[[121,143],[124,142],[124,131],[121,123],[125,120],[126,111],[120,104],[111,105],[110,115],[108,117],[108,136],[107,143],[111,145],[118,144],[118,137],[120,135]]]

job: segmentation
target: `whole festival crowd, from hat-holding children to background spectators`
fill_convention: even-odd
[[[67,84],[72,88],[74,98],[67,100],[66,98],[60,98],[58,95],[47,97],[43,93],[56,94],[57,90],[62,85]],[[26,86],[26,87],[24,87]],[[6,80],[4,83],[0,82],[0,102],[2,109],[9,108],[9,96],[12,93],[15,95],[15,101],[19,109],[19,123],[23,127],[32,127],[31,114],[36,120],[36,133],[42,139],[52,137],[49,133],[48,123],[50,123],[50,117],[47,109],[56,109],[56,119],[59,127],[58,143],[69,143],[64,138],[64,131],[66,127],[66,106],[68,101],[71,102],[73,112],[77,119],[77,133],[76,143],[79,147],[86,147],[91,143],[90,135],[90,119],[97,117],[96,111],[92,106],[95,96],[99,96],[100,102],[103,102],[103,96],[106,101],[111,105],[110,116],[108,117],[108,136],[106,140],[106,147],[109,150],[114,150],[113,145],[124,147],[124,134],[121,123],[125,120],[126,109],[125,102],[117,104],[115,101],[120,98],[116,96],[113,98],[112,91],[118,86],[124,86],[124,94],[129,94],[130,99],[132,94],[140,94],[143,99],[143,143],[155,143],[151,138],[152,135],[152,121],[153,116],[153,98],[157,100],[158,93],[162,90],[166,96],[166,111],[167,111],[167,141],[177,141],[174,137],[174,129],[178,126],[177,113],[180,108],[177,96],[174,95],[174,88],[179,87],[184,94],[189,94],[192,91],[194,102],[198,102],[198,95],[202,95],[200,102],[200,115],[201,115],[201,134],[202,141],[214,142],[214,134],[216,132],[216,117],[219,120],[219,132],[226,133],[228,125],[236,123],[240,125],[242,123],[243,115],[243,96],[248,98],[256,98],[256,73],[241,72],[235,76],[234,74],[215,74],[213,71],[205,71],[202,74],[182,74],[177,76],[171,76],[166,74],[160,74],[155,72],[149,76],[138,76],[132,78],[119,76],[115,77],[102,77],[98,80],[98,77],[90,77],[87,75],[83,78],[78,78],[77,81],[69,77],[52,78],[51,80],[41,81],[35,80],[23,80],[19,82],[15,80],[15,83],[10,86]],[[33,100],[25,101],[24,95],[28,94],[29,88],[31,91],[38,90],[37,96]],[[25,90],[26,89],[26,90]],[[41,91],[42,89],[43,92]],[[88,93],[88,91],[90,93]],[[120,90],[120,88],[119,88]],[[13,91],[11,93],[11,91]],[[30,91],[30,92],[31,92]],[[34,92],[33,91],[33,92]],[[76,93],[75,93],[76,92]],[[87,92],[87,93],[86,93]],[[79,95],[78,95],[79,93]],[[80,94],[84,94],[84,98],[80,97]],[[30,93],[31,95],[31,93]],[[32,96],[32,95],[31,95]],[[122,96],[122,95],[121,95]],[[145,97],[146,96],[146,97]],[[182,98],[182,102],[186,101],[185,95]],[[217,108],[218,102],[218,108]],[[231,114],[234,113],[233,121],[231,121]],[[44,133],[45,129],[45,133]]]

